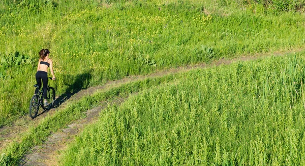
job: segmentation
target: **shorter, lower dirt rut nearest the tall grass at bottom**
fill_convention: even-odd
[[[75,136],[87,125],[96,122],[99,113],[107,105],[120,105],[125,99],[116,98],[112,101],[103,102],[100,106],[86,112],[86,118],[77,120],[68,125],[67,128],[52,134],[47,141],[40,146],[35,146],[32,153],[25,155],[21,165],[58,165],[60,152],[66,149],[67,144],[74,140]]]

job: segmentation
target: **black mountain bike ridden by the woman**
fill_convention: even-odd
[[[48,77],[48,79],[52,80],[52,77]],[[39,88],[39,86],[36,84],[34,85],[35,88]],[[55,90],[53,87],[50,87],[48,85],[47,87],[47,102],[48,106],[45,106],[43,103],[44,97],[43,97],[43,88],[41,88],[37,94],[34,94],[31,101],[29,102],[29,117],[34,119],[39,111],[39,108],[41,107],[44,111],[48,111],[52,108],[54,101],[55,101]]]

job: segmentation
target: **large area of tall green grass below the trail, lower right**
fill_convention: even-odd
[[[304,53],[192,70],[101,111],[63,165],[303,165]]]

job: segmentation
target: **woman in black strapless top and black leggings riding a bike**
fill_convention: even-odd
[[[47,87],[48,87],[48,67],[50,66],[50,70],[52,73],[52,79],[55,80],[54,72],[53,72],[53,63],[52,60],[49,58],[50,51],[48,49],[42,49],[39,52],[40,58],[38,61],[37,73],[36,73],[36,81],[37,85],[39,86],[35,90],[35,94],[38,93],[41,87],[41,79],[43,83],[43,96],[44,96],[44,105],[48,106],[47,102]]]

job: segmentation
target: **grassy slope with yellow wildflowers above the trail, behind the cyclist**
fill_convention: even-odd
[[[42,48],[51,51],[58,95],[163,68],[303,48],[303,14],[260,11],[234,1],[2,1],[0,127],[27,113]]]

